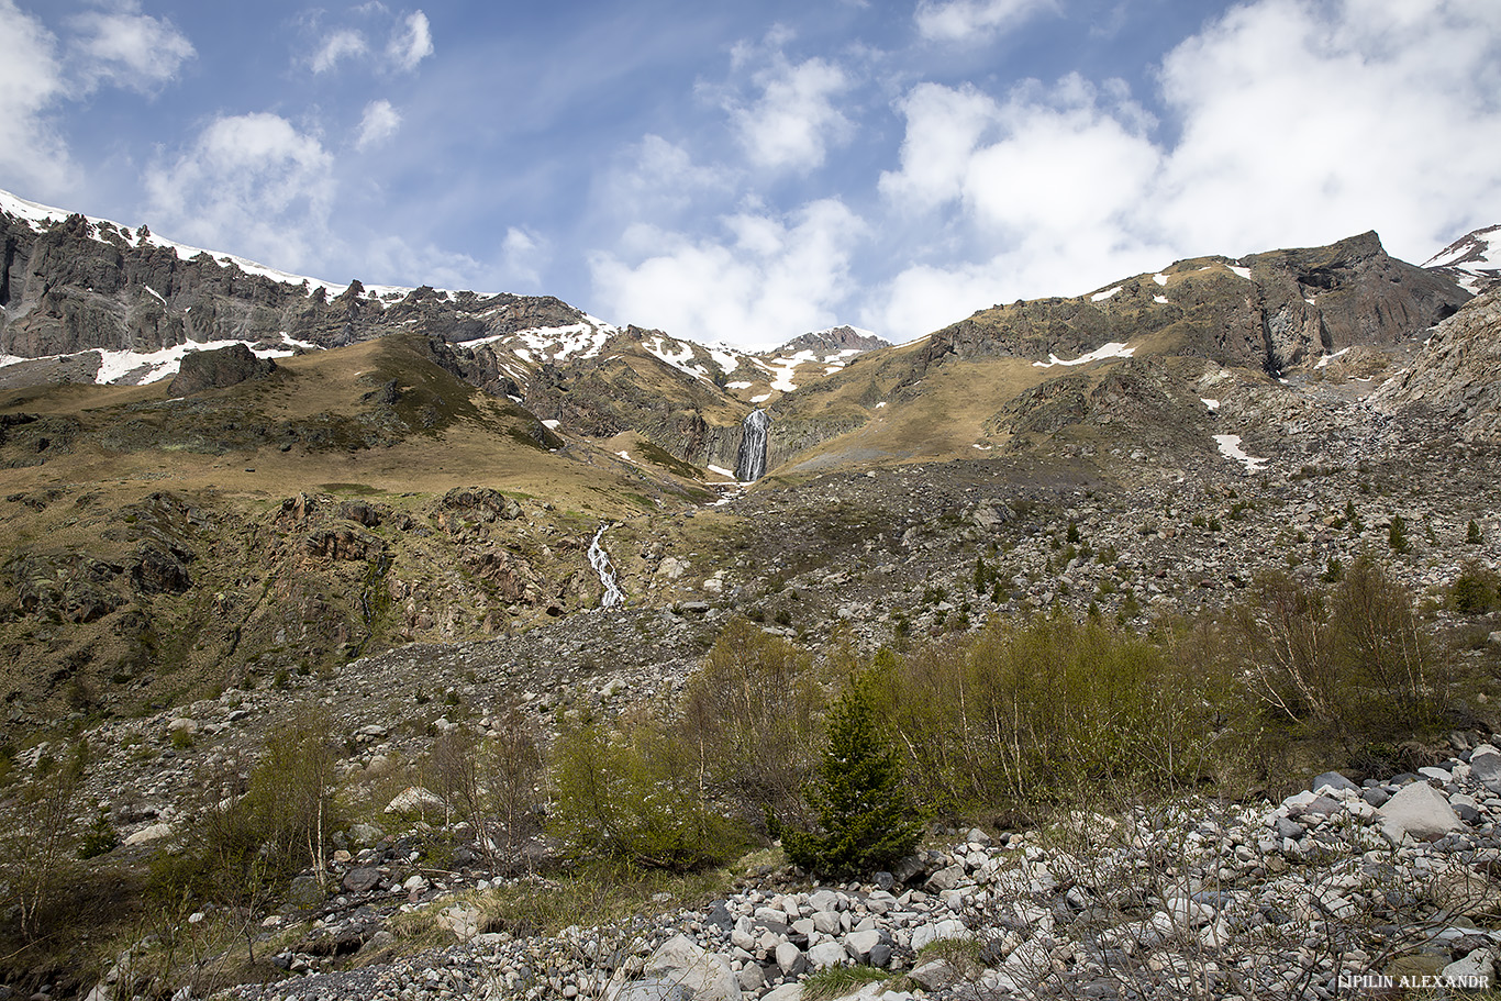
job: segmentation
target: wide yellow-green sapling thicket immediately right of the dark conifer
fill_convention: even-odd
[[[1081,782],[1193,780],[1231,698],[1219,663],[1063,615],[877,657],[877,699],[923,801],[967,813]]]

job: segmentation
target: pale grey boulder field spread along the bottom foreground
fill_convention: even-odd
[[[1501,956],[1501,752],[1451,743],[1445,764],[1387,782],[1325,773],[1280,803],[976,828],[872,882],[797,887],[784,870],[702,909],[555,936],[482,933],[474,890],[488,882],[393,882],[366,848],[339,866],[321,933],[380,948],[390,933],[369,914],[395,899],[435,912],[455,944],[330,972],[284,953],[279,965],[306,974],[224,996],[799,1001],[835,966],[863,968],[845,993],[887,1001],[1483,987]]]

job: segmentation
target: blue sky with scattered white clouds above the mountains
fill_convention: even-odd
[[[1496,0],[0,0],[0,188],[764,350],[1501,222]]]

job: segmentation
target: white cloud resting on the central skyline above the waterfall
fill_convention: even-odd
[[[591,261],[608,315],[678,336],[772,348],[836,321],[853,290],[850,252],[865,224],[839,200],[788,216],[744,212],[720,221],[726,239],[695,240],[638,225],[621,254]]]

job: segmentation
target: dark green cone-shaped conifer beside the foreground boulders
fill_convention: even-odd
[[[869,681],[851,678],[829,713],[829,746],[808,786],[818,831],[781,828],[787,857],[809,872],[850,878],[905,858],[922,824],[902,792],[896,750],[878,731]]]

